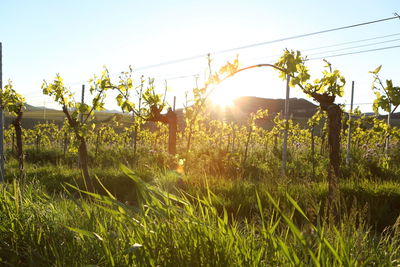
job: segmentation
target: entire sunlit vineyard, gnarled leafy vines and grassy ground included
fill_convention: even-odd
[[[210,70],[181,110],[153,80],[134,86],[130,69],[115,83],[104,69],[91,103],[75,102],[59,75],[45,82],[62,112],[26,112],[24,122],[9,82],[1,263],[399,266],[400,129],[359,110],[349,118],[335,103],[344,77],[326,62],[310,82],[305,62],[285,50],[273,66],[319,103],[302,118],[272,105],[213,110],[210,88],[260,67],[237,59]],[[384,87],[379,71],[386,95],[374,109],[393,113],[399,88]],[[125,115],[101,113],[109,90]]]

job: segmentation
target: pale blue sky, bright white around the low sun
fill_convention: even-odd
[[[12,80],[29,104],[60,108],[43,96],[43,80],[51,81],[60,73],[80,99],[82,84],[99,75],[104,65],[115,78],[131,65],[134,77],[154,77],[159,92],[164,92],[167,83],[167,101],[176,96],[180,107],[185,92],[196,86],[195,75],[201,83],[208,73],[206,54],[211,53],[212,70],[217,71],[236,55],[242,67],[274,63],[287,48],[300,50],[310,59],[327,57],[347,80],[345,96],[337,102],[350,103],[354,81],[355,106],[370,112],[374,94],[368,72],[383,65],[381,77],[400,85],[400,48],[328,56],[400,45],[400,19],[229,53],[213,52],[389,18],[394,12],[400,13],[398,0],[0,0],[3,84]],[[343,44],[348,42],[353,43]],[[144,68],[198,55],[177,64]],[[315,59],[307,65],[314,79],[324,63]],[[218,86],[213,98],[284,98],[285,83],[278,76],[271,68],[245,71]],[[291,89],[291,97],[306,98],[296,88]],[[112,95],[107,108],[117,109]]]

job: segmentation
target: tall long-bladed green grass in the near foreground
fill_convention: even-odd
[[[266,193],[263,200],[257,192],[258,215],[238,220],[225,208],[216,207],[217,197],[210,190],[205,197],[172,195],[126,168],[124,172],[134,184],[135,205],[118,201],[106,187],[106,194],[99,195],[69,185],[65,193],[50,196],[35,182],[1,185],[2,265],[399,264],[398,224],[376,236],[350,216],[335,223],[309,218],[289,195],[279,201]],[[70,195],[71,189],[82,197]]]

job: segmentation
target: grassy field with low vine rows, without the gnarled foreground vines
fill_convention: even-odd
[[[5,266],[397,266],[398,141],[393,134],[386,154],[384,129],[364,128],[368,118],[362,120],[354,122],[351,164],[342,162],[335,216],[326,202],[322,126],[312,161],[310,130],[290,123],[282,176],[279,117],[264,130],[255,119],[237,125],[205,114],[189,150],[189,127],[178,132],[176,156],[167,153],[165,125],[142,129],[135,153],[132,127],[116,134],[110,121],[88,135],[92,192],[73,135],[65,149],[56,125],[24,130],[21,178],[10,129],[0,260]],[[343,131],[342,158],[345,139]]]

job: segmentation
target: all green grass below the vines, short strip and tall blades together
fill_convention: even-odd
[[[73,154],[26,151],[25,179],[17,180],[9,157],[0,185],[4,266],[400,264],[399,183],[391,173],[374,176],[361,160],[343,168],[340,216],[332,218],[323,164],[310,177],[309,164],[299,170],[306,155],[282,178],[273,157],[225,162],[230,175],[204,164],[184,174],[160,154],[100,150],[90,162],[94,194],[78,189]]]

